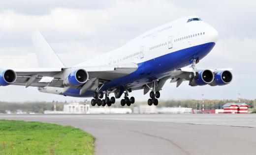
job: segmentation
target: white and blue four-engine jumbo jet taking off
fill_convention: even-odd
[[[232,80],[232,69],[197,69],[196,64],[215,46],[218,32],[197,16],[180,18],[153,28],[126,45],[69,67],[65,66],[39,30],[32,32],[39,68],[0,70],[0,86],[37,87],[40,92],[71,97],[93,97],[93,106],[135,103],[135,90],[149,93],[148,105],[158,105],[166,80],[178,87],[222,86]],[[109,98],[110,94],[114,94]],[[104,99],[103,99],[104,97]]]

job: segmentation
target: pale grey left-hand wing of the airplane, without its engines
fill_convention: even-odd
[[[67,69],[84,69],[88,72],[90,78],[102,80],[112,80],[124,77],[138,68],[135,63],[128,63],[118,66],[90,66],[75,68],[13,68],[17,79],[12,85],[24,85],[34,87],[64,87],[64,70]]]

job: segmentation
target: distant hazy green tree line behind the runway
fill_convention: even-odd
[[[237,100],[204,100],[204,109],[222,109],[225,103],[238,103]],[[256,99],[247,100],[241,99],[241,103],[247,103],[250,109],[256,111]],[[63,110],[64,104],[67,102],[57,102],[56,109],[57,111]],[[83,104],[81,102],[81,104]],[[90,104],[90,102],[88,103]],[[141,104],[147,104],[147,102],[135,102],[130,106],[138,106]],[[160,100],[158,107],[190,107],[192,109],[202,109],[202,100]],[[97,107],[97,106],[96,106]],[[119,102],[113,104],[111,107],[123,107]],[[127,106],[125,106],[127,107]],[[22,110],[23,112],[34,112],[34,113],[43,113],[44,110],[54,110],[53,102],[0,102],[0,113],[6,113],[6,110],[11,111],[12,113],[17,112],[17,110]]]

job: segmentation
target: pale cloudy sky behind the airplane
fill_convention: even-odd
[[[214,49],[197,68],[233,68],[225,86],[176,88],[167,81],[161,99],[256,99],[255,0],[1,0],[0,68],[37,67],[31,32],[39,29],[66,66],[119,48],[154,27],[197,15],[216,28]],[[1,86],[0,101],[83,101],[84,98],[38,92],[25,86]],[[146,101],[143,91],[130,93]]]

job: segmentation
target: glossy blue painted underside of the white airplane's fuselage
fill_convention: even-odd
[[[202,59],[212,50],[214,45],[215,43],[197,45],[139,63],[138,69],[135,72],[125,77],[117,78],[105,83],[105,85],[101,88],[101,91],[120,86],[126,86],[128,88],[139,87],[158,78],[162,78],[175,69],[190,65],[190,60],[192,58]],[[61,95],[72,97],[92,97],[93,93],[93,91],[87,91],[86,93],[79,95],[79,92],[79,89],[69,89],[67,92]]]

